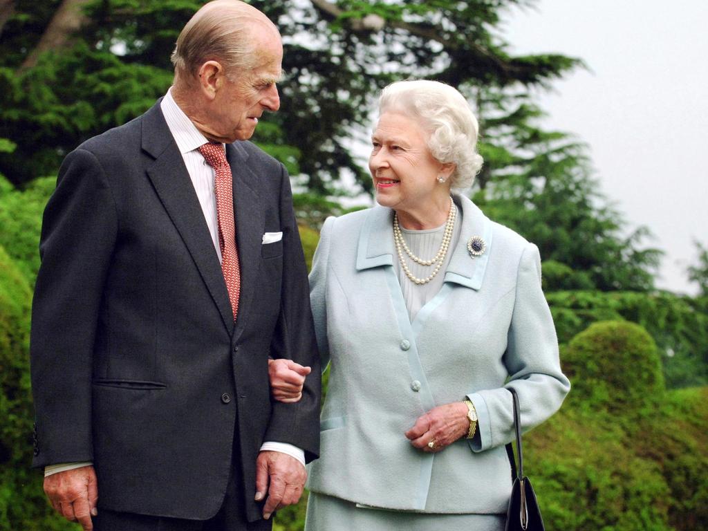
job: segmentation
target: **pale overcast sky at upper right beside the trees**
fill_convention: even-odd
[[[539,0],[506,17],[515,53],[580,57],[541,95],[544,125],[590,146],[603,193],[666,251],[658,287],[696,291],[685,268],[708,244],[708,0]]]

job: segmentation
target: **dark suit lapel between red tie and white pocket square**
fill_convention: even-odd
[[[261,246],[265,214],[258,197],[258,180],[246,164],[249,158],[246,150],[238,143],[227,144],[227,160],[234,178],[234,219],[236,220],[236,244],[239,246],[241,265],[241,295],[239,297],[239,318],[236,319],[234,336],[238,338],[249,319],[251,299],[258,283],[258,268],[261,264]]]

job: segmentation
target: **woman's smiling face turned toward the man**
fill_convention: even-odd
[[[428,134],[416,120],[396,112],[381,115],[372,137],[369,170],[379,205],[396,212],[415,214],[429,207],[435,195],[450,195],[450,186],[438,183],[447,178],[447,164],[433,158]]]

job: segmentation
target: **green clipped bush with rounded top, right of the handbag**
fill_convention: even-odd
[[[708,388],[665,392],[653,341],[622,321],[594,324],[561,359],[571,394],[525,438],[547,529],[698,529],[708,510]]]

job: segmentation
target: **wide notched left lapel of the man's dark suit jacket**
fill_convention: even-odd
[[[152,185],[207,285],[224,326],[231,333],[234,329],[234,316],[221,265],[194,185],[184,165],[182,154],[164,120],[159,103],[144,115],[142,147],[154,157],[154,162],[147,166]]]

